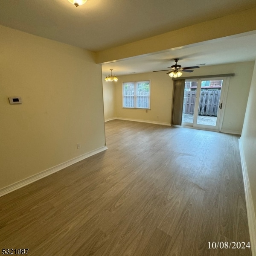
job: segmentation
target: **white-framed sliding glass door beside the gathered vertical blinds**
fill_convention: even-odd
[[[221,129],[224,89],[228,78],[185,81],[182,125],[209,130]]]

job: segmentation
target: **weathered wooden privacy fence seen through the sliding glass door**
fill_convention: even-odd
[[[184,92],[183,113],[194,114],[196,91]],[[198,115],[217,116],[221,90],[201,90]]]

